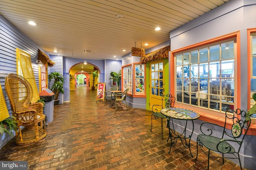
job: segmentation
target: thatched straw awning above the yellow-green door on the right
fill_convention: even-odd
[[[146,54],[146,57],[140,58],[140,62],[147,63],[148,61],[155,61],[155,60],[159,60],[159,59],[168,58],[169,51],[170,51],[170,45],[168,45],[162,49],[158,49],[156,51],[152,51],[151,53]]]

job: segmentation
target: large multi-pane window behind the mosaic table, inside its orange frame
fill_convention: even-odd
[[[236,39],[176,53],[176,101],[226,111],[234,108]]]

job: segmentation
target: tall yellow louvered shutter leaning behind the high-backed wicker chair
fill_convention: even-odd
[[[33,98],[31,103],[36,103],[40,99],[40,97],[39,97],[39,93],[36,86],[36,79],[35,79],[32,64],[31,64],[30,54],[17,48],[16,56],[17,56],[17,65],[20,65],[22,70],[22,76],[26,78],[26,80],[28,80],[28,82],[30,83],[33,89]]]

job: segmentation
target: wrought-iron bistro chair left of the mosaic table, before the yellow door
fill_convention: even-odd
[[[160,110],[163,108],[167,107],[173,107],[175,103],[175,97],[172,96],[171,94],[166,94],[162,96],[162,105],[153,105],[152,106],[152,115],[151,115],[151,129],[152,131],[152,119],[155,119],[156,121],[161,122],[161,127],[162,127],[162,139],[163,139],[163,122],[166,122],[166,116],[163,115]],[[160,119],[159,119],[160,118]]]

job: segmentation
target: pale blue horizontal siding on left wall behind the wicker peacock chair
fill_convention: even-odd
[[[4,87],[4,80],[8,74],[16,73],[16,48],[26,51],[31,55],[32,68],[36,78],[36,85],[39,89],[39,70],[38,66],[36,66],[36,60],[38,59],[38,49],[42,49],[0,15],[0,85],[9,115],[12,115],[12,111]],[[0,148],[10,141],[12,137],[10,135],[2,135],[0,138]]]

